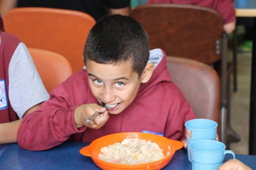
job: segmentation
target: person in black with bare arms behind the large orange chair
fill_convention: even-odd
[[[106,14],[130,14],[130,0],[1,0],[0,11],[5,13],[16,7],[47,7],[85,12],[96,21]]]

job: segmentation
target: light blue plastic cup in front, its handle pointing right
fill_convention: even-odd
[[[235,153],[225,148],[224,143],[216,140],[198,140],[191,143],[192,170],[217,170],[223,164],[227,153],[232,154],[235,159]]]

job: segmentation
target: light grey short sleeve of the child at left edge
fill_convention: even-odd
[[[8,72],[9,100],[19,118],[22,118],[29,108],[49,99],[49,94],[23,42],[15,49]]]

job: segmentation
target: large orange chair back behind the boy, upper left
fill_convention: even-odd
[[[84,44],[95,20],[78,11],[52,8],[15,8],[3,19],[6,32],[27,47],[46,49],[65,56],[73,72],[83,68]]]

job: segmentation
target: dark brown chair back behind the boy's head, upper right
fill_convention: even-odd
[[[216,11],[184,4],[145,4],[131,16],[149,36],[150,49],[162,48],[167,55],[194,59],[206,64],[219,61],[223,33]],[[218,43],[218,42],[217,42]]]

